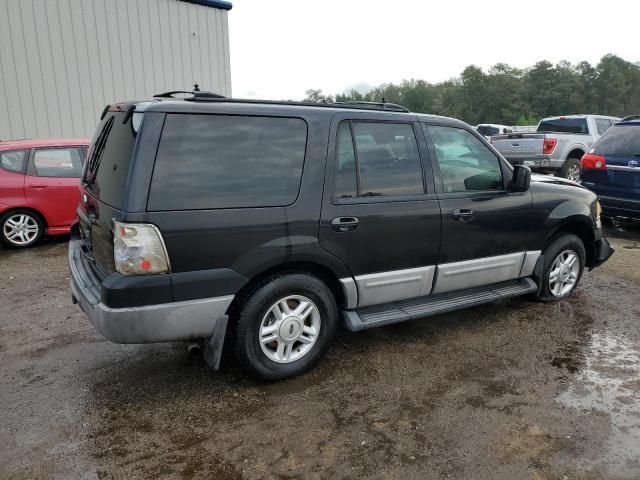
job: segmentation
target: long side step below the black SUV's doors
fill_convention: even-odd
[[[537,289],[538,286],[531,278],[520,278],[470,290],[372,305],[357,310],[344,310],[342,314],[347,329],[355,332],[481,305],[501,298],[517,297],[535,292]]]

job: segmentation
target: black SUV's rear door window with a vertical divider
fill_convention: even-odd
[[[336,198],[423,193],[418,145],[410,124],[349,121],[340,124]]]

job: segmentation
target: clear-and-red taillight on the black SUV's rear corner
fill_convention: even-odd
[[[169,257],[160,230],[147,223],[113,222],[113,260],[122,275],[169,272]]]

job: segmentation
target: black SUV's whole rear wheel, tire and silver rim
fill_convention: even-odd
[[[235,323],[235,354],[264,380],[313,368],[335,333],[338,308],[331,290],[306,273],[271,277],[245,300]]]

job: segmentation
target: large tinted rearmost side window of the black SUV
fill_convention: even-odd
[[[290,205],[306,143],[307,124],[298,118],[168,114],[147,208]]]

